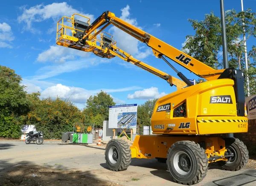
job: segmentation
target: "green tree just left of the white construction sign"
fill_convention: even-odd
[[[103,121],[108,120],[109,106],[115,104],[113,98],[103,91],[97,93],[96,96],[90,96],[83,110],[85,123],[95,122],[96,127],[102,127]]]

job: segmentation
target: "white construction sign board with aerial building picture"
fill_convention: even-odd
[[[136,129],[137,104],[110,106],[108,127],[114,129]]]

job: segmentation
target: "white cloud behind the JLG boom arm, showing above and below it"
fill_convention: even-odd
[[[125,8],[121,9],[122,14],[120,16],[120,19],[124,20],[127,23],[130,23],[131,25],[136,26],[137,28],[141,28],[138,26],[137,20],[132,19],[130,17],[130,6],[127,5]],[[111,27],[110,31],[113,32],[114,39],[116,40],[116,45],[121,48],[123,51],[136,56],[137,58],[143,59],[150,55],[151,53],[146,51],[140,51],[139,50],[139,43],[140,41],[135,39],[134,37],[130,36],[126,32],[122,31],[121,29],[117,27]],[[141,57],[143,56],[143,57]]]

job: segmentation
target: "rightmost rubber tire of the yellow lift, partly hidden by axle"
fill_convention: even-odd
[[[242,141],[237,138],[224,138],[226,149],[232,149],[231,152],[235,151],[235,159],[231,159],[230,161],[219,161],[222,169],[228,171],[238,171],[243,168],[248,159],[249,152],[247,147],[244,145]]]

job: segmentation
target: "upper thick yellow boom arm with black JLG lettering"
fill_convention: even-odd
[[[183,66],[184,68],[190,70],[195,73],[197,76],[202,77],[207,80],[218,79],[224,69],[215,70],[204,63],[198,61],[197,59],[183,53],[177,48],[168,45],[167,43],[157,39],[154,36],[146,33],[145,31],[125,22],[124,20],[118,18],[110,11],[105,11],[101,16],[99,16],[85,31],[81,37],[81,42],[84,39],[88,39],[90,34],[93,34],[93,31],[99,28],[96,34],[99,34],[103,31],[108,25],[114,25],[117,28],[125,31],[130,34],[132,37],[140,40],[141,42],[145,42],[149,47],[152,48],[153,53],[158,58],[161,56],[166,56],[169,59],[172,59],[174,62]],[[104,25],[104,26],[103,26]],[[103,26],[102,28],[100,28]],[[93,37],[89,38],[92,40],[96,37],[96,34],[93,34]]]

